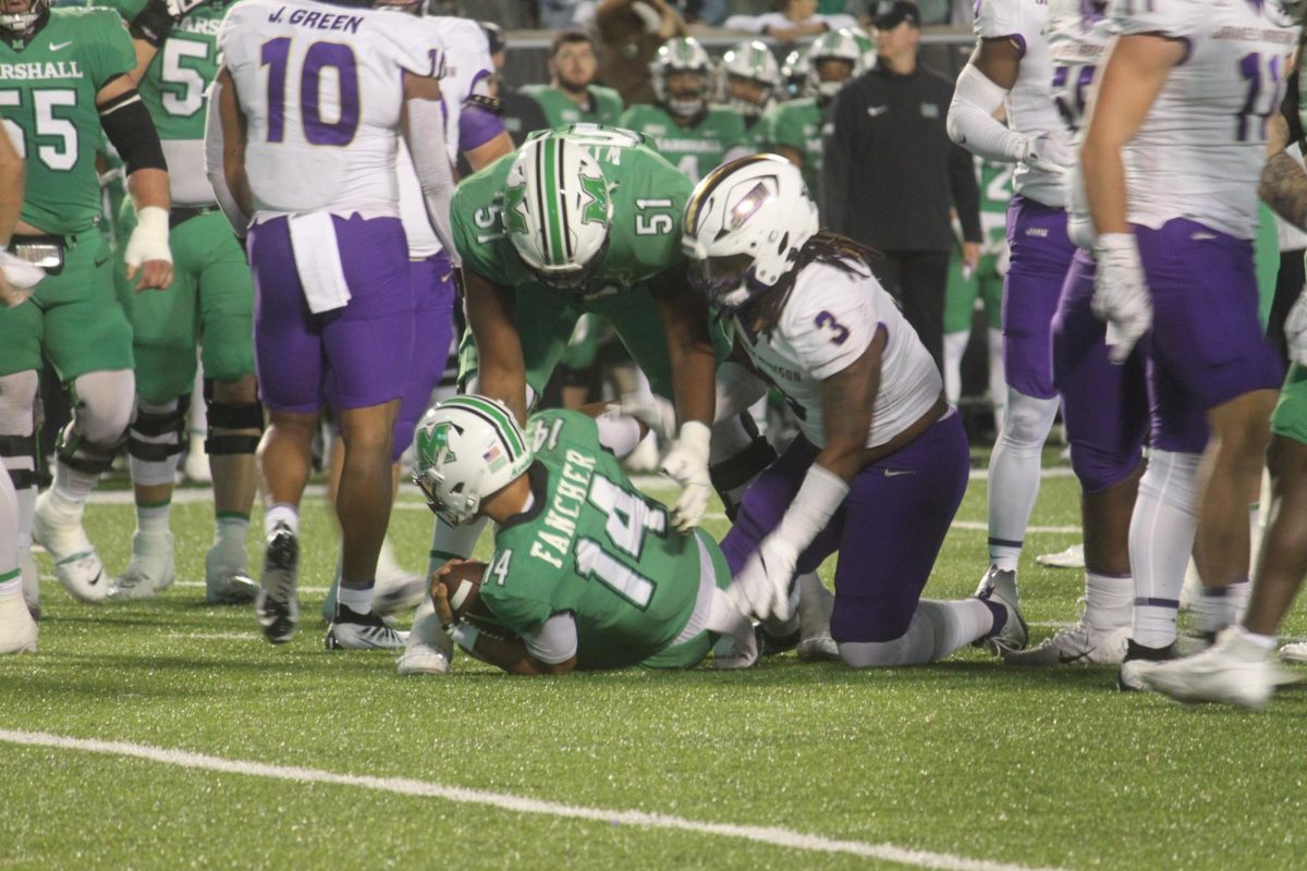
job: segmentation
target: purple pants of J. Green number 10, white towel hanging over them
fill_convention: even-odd
[[[399,218],[333,218],[350,300],[308,311],[285,218],[255,225],[254,349],[259,394],[274,411],[323,406],[332,381],[337,409],[384,405],[404,394],[413,354],[413,287]]]

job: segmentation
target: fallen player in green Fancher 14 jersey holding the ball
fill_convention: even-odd
[[[446,522],[495,522],[481,601],[515,636],[452,623],[437,585],[437,614],[464,650],[514,674],[689,669],[725,635],[718,665],[753,663],[753,627],[725,597],[716,543],[678,533],[622,473],[617,457],[642,435],[629,418],[578,411],[537,414],[524,435],[507,406],[478,396],[426,413],[414,481]]]

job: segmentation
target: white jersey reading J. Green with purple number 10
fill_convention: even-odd
[[[257,218],[399,214],[403,72],[435,76],[440,54],[413,18],[319,0],[243,0],[218,47],[247,119]]]

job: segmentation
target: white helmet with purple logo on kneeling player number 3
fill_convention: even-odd
[[[723,163],[694,187],[681,247],[690,283],[733,312],[771,290],[818,230],[797,166],[775,154]]]

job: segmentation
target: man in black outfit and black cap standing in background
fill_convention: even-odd
[[[898,296],[936,366],[944,353],[944,290],[962,222],[963,262],[980,259],[980,191],[971,155],[944,121],[953,82],[918,64],[916,5],[885,0],[873,18],[876,69],[835,98],[822,170],[825,223],[885,255],[877,278]]]

